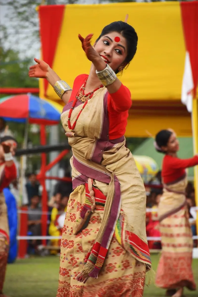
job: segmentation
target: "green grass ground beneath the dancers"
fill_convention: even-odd
[[[156,271],[159,255],[152,255]],[[4,293],[9,297],[56,297],[58,286],[59,257],[35,257],[17,260],[7,267]],[[195,282],[198,283],[198,259],[193,260]],[[197,291],[185,290],[186,296],[197,296]],[[145,286],[144,296],[164,296],[164,290],[154,284]]]

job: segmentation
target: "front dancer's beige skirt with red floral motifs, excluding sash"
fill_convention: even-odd
[[[84,203],[80,198],[74,200],[73,204],[70,200],[74,208],[68,210],[63,227],[57,297],[142,297],[145,265],[137,265],[139,261],[126,252],[115,236],[98,279],[90,278],[83,285],[77,282],[76,276],[82,271],[85,256],[96,240],[103,214],[93,213],[87,227],[74,235],[81,220],[77,210],[80,211]]]

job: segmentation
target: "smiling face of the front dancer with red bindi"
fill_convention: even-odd
[[[94,44],[94,49],[114,71],[120,66],[126,66],[124,61],[127,56],[127,43],[120,33],[111,32],[102,36]]]

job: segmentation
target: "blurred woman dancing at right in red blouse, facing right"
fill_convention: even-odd
[[[198,155],[179,159],[179,142],[173,130],[161,130],[155,139],[157,151],[165,154],[162,162],[163,195],[160,199],[162,254],[156,285],[167,289],[167,296],[181,297],[183,288],[196,290],[192,272],[192,233],[186,207],[186,168],[198,165]]]

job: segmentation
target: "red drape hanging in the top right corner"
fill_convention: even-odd
[[[186,50],[190,55],[195,97],[198,83],[198,2],[181,2],[180,9]]]

